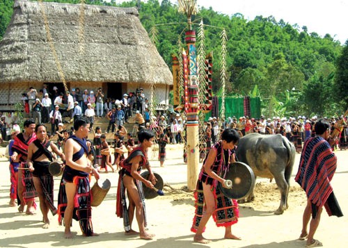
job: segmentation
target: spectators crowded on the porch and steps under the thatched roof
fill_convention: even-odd
[[[107,118],[111,124],[122,125],[128,122],[128,118],[135,113],[141,113],[144,119],[148,120],[149,102],[145,97],[143,88],[136,89],[136,92],[129,92],[122,95],[122,99],[106,97],[102,88],[96,92],[72,88],[70,91],[59,92],[54,86],[53,92],[48,92],[44,84],[41,90],[33,87],[29,92],[22,94],[22,103],[26,117],[31,117],[36,123],[51,123],[52,133],[58,129],[61,122],[72,122],[81,116],[86,116],[91,127],[95,118]],[[70,119],[65,120],[65,117]],[[114,130],[110,125],[109,129]],[[109,132],[109,129],[107,132]]]

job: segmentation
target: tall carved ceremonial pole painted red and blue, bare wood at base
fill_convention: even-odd
[[[196,188],[199,163],[198,132],[198,70],[196,32],[192,30],[191,15],[197,13],[197,0],[179,0],[179,10],[187,15],[188,31],[185,33],[187,52],[183,51],[185,103],[187,114],[187,188]]]

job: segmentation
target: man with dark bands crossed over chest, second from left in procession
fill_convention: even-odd
[[[56,144],[47,139],[46,126],[38,124],[35,126],[36,140],[31,142],[28,147],[28,158],[26,162],[29,170],[33,172],[35,190],[40,199],[40,210],[43,215],[44,225],[42,228],[49,228],[48,211],[56,215],[57,209],[54,206],[53,197],[53,176],[49,174],[49,163],[52,162],[52,151],[65,160],[64,154],[58,149]]]

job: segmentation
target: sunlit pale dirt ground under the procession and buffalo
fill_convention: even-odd
[[[4,149],[0,149],[3,154]],[[315,238],[323,242],[324,247],[347,247],[345,235],[348,227],[348,151],[336,151],[338,169],[333,177],[333,190],[340,203],[344,217],[329,217],[325,210]],[[182,146],[168,145],[165,167],[159,167],[157,154],[150,152],[153,170],[161,175],[169,185],[164,188],[166,195],[146,201],[148,213],[148,229],[155,233],[154,240],[141,240],[137,236],[126,236],[123,233],[122,219],[115,215],[117,173],[101,174],[102,179],[111,181],[111,189],[100,206],[93,208],[93,229],[100,233],[99,237],[85,238],[81,235],[79,224],[72,223],[75,238],[63,238],[63,226],[58,226],[58,217],[50,216],[51,226],[42,229],[40,209],[36,215],[18,213],[17,207],[8,205],[10,189],[10,173],[6,158],[0,158],[0,247],[305,247],[306,241],[296,240],[301,232],[303,209],[306,206],[306,195],[294,182],[294,174],[299,165],[299,154],[296,154],[292,172],[289,194],[289,209],[283,215],[274,215],[280,204],[280,194],[274,181],[257,179],[255,201],[239,205],[239,222],[232,226],[232,232],[242,240],[224,240],[224,229],[216,227],[209,220],[205,238],[212,243],[201,245],[193,242],[190,228],[193,220],[193,193],[180,190],[187,185],[187,165],[182,160]],[[347,167],[346,167],[347,166]],[[54,199],[58,195],[59,178],[55,177]],[[92,182],[94,183],[94,181]],[[134,221],[134,229],[137,224]]]

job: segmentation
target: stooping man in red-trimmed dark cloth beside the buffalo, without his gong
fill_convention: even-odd
[[[203,238],[203,231],[209,218],[214,215],[216,226],[225,226],[226,239],[240,240],[232,234],[231,226],[237,223],[239,217],[238,204],[235,199],[225,197],[219,190],[218,183],[226,187],[226,180],[219,175],[225,174],[230,163],[235,162],[235,148],[239,134],[234,129],[225,129],[221,140],[210,149],[203,161],[203,167],[197,181],[196,211],[191,231],[196,233],[193,240],[207,244],[211,240]]]

